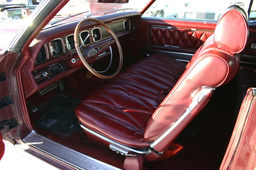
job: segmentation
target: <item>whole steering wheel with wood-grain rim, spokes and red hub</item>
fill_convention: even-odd
[[[82,49],[82,51],[81,51],[81,49],[79,47],[79,41],[78,41],[78,30],[79,30],[80,26],[84,22],[87,22],[87,21],[93,21],[93,22],[96,22],[96,23],[100,24],[101,26],[103,26],[111,34],[112,37],[110,39],[107,38],[106,39],[107,41],[94,42],[92,45],[87,46],[86,48]],[[88,34],[87,38],[89,36],[91,36],[90,33]],[[115,33],[105,23],[103,23],[102,21],[100,21],[98,19],[94,19],[94,18],[83,19],[76,26],[75,34],[74,34],[74,39],[75,39],[75,48],[76,48],[76,51],[77,51],[77,54],[78,54],[80,60],[83,62],[84,66],[92,74],[94,74],[95,76],[97,76],[99,78],[109,79],[109,78],[115,77],[119,73],[119,71],[121,70],[121,67],[122,67],[122,63],[123,63],[123,54],[122,54],[121,45],[120,45],[120,43],[119,43]],[[104,75],[100,74],[102,71],[100,72],[100,71],[94,70],[86,62],[86,60],[95,61],[97,59],[97,57],[99,57],[100,55],[103,54],[104,51],[106,51],[106,49],[110,48],[110,51],[111,51],[111,45],[113,45],[115,43],[117,45],[118,53],[119,53],[119,65],[118,65],[118,68],[117,68],[116,72],[113,73],[111,76],[104,76]],[[83,44],[83,42],[82,42],[82,44]],[[111,57],[112,57],[112,51],[111,51]],[[110,64],[111,64],[111,61],[110,61]],[[110,64],[109,64],[109,66],[110,66]]]

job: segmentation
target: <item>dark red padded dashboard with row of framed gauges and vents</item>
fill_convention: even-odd
[[[121,46],[132,44],[131,36],[139,25],[139,12],[122,12],[96,17],[108,25],[116,34]],[[83,68],[81,62],[71,63],[71,59],[79,61],[75,49],[74,31],[80,20],[65,23],[42,30],[30,44],[30,60],[24,65],[21,78],[25,97],[43,91],[52,83],[58,82],[73,72]],[[108,31],[94,22],[85,22],[78,33],[81,51],[94,45],[106,43],[111,38]],[[98,45],[100,47],[101,45]],[[100,56],[101,54],[99,54]],[[101,57],[107,55],[102,55]],[[99,57],[99,60],[102,59]]]

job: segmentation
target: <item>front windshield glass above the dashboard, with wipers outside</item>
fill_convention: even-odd
[[[98,3],[97,0],[70,0],[57,15],[52,18],[45,28],[51,27],[57,23],[66,23],[70,20],[81,18],[91,18],[124,11],[141,11],[148,1],[149,0],[130,0],[127,4],[110,4]],[[63,19],[65,17],[66,19]],[[56,22],[56,20],[58,21]]]

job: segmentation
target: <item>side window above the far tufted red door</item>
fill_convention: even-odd
[[[250,0],[156,0],[142,17],[219,20],[231,5],[248,11]]]

